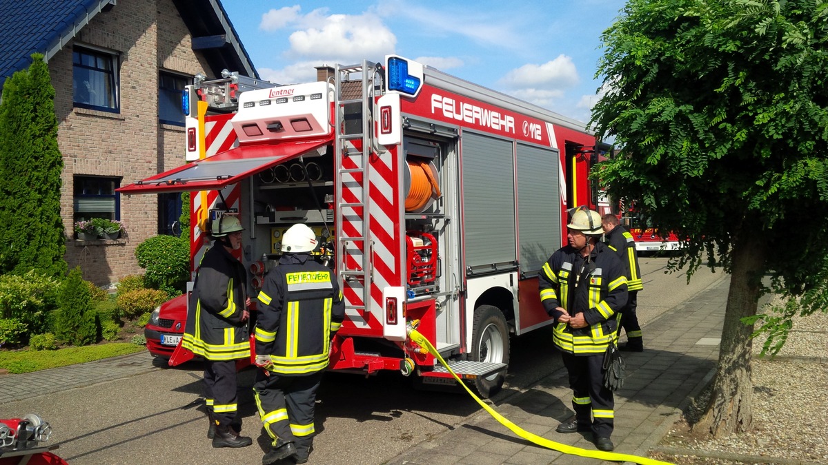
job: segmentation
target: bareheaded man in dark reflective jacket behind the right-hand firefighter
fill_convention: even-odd
[[[619,218],[612,213],[605,214],[601,218],[601,225],[604,227],[604,242],[609,248],[618,254],[627,274],[627,304],[621,309],[621,324],[618,334],[621,335],[621,328],[627,332],[627,343],[619,349],[633,352],[643,352],[644,343],[641,334],[641,326],[638,324],[638,315],[635,314],[638,291],[644,288],[641,280],[641,268],[638,266],[638,252],[635,251],[633,235],[621,226]]]

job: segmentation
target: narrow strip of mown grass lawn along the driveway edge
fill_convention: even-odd
[[[147,350],[147,348],[134,343],[106,343],[57,350],[0,351],[0,368],[14,374],[37,372],[47,368],[65,367],[75,365],[75,363],[118,357],[118,355],[127,355],[142,350]]]

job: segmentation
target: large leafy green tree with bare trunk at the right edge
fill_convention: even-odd
[[[599,177],[686,239],[673,266],[730,273],[696,428],[749,429],[759,297],[804,295],[808,311],[825,309],[828,3],[629,0],[602,40],[593,122],[620,151]]]

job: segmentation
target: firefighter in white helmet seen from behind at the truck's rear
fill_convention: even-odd
[[[310,256],[313,230],[295,224],[282,237],[282,258],[267,272],[256,323],[253,390],[272,449],[262,463],[293,457],[306,463],[313,450],[316,390],[328,367],[330,343],[345,315],[334,273]]]

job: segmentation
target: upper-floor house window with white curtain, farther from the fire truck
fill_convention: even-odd
[[[118,113],[118,56],[75,47],[72,88],[75,107]]]

